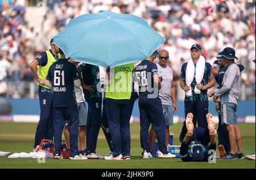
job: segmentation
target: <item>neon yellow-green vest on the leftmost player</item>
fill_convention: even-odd
[[[45,51],[47,54],[47,65],[46,66],[39,66],[39,79],[46,79],[47,73],[49,70],[49,67],[53,64],[53,62],[56,62],[56,59],[54,56],[52,56],[52,53],[49,51]],[[60,58],[60,54],[58,54],[58,57]],[[46,85],[42,85],[41,83],[38,83],[39,86],[47,87]]]

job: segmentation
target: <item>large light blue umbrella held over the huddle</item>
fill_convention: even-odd
[[[163,41],[145,20],[111,11],[78,16],[53,37],[65,57],[104,67],[141,61]]]

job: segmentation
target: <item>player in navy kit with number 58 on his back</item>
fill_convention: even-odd
[[[164,122],[163,107],[158,96],[161,82],[158,76],[158,67],[152,61],[158,56],[155,51],[147,57],[134,70],[134,83],[138,83],[139,90],[139,114],[141,124],[141,147],[143,158],[152,158],[148,141],[148,128],[152,123],[158,139],[158,157],[170,158],[175,155],[168,153],[165,145],[166,125]]]

